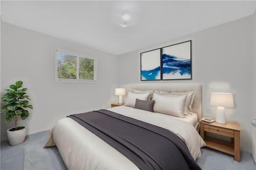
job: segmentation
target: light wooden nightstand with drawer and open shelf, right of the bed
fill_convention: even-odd
[[[200,121],[200,135],[206,143],[206,147],[234,155],[234,160],[240,162],[240,131],[238,123],[208,124]],[[206,132],[231,137],[231,142],[206,135]]]

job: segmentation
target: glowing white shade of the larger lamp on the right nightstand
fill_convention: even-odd
[[[210,95],[210,105],[220,107],[234,107],[233,93],[212,92]]]

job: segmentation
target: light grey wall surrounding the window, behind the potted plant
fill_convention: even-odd
[[[34,133],[49,129],[62,117],[110,107],[118,84],[117,56],[24,28],[1,23],[1,94],[9,84],[22,80],[28,87],[34,109],[18,125]],[[98,83],[55,83],[55,48],[98,58]],[[117,99],[115,98],[117,101]],[[7,123],[1,116],[1,141],[6,139]]]

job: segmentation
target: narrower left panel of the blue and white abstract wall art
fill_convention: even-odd
[[[160,80],[161,79],[161,51],[160,48],[140,54],[141,80]]]

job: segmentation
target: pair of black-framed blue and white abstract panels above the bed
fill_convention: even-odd
[[[191,40],[140,54],[141,80],[191,79]]]

